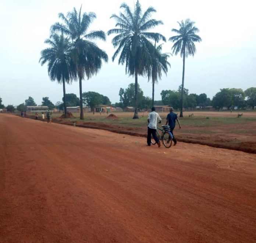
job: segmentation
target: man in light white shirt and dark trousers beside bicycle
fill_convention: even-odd
[[[158,146],[161,146],[161,143],[159,139],[156,136],[156,124],[157,124],[157,119],[159,120],[159,123],[161,123],[161,117],[158,115],[158,113],[155,112],[156,108],[152,107],[151,108],[152,112],[149,113],[149,116],[147,117],[147,122],[149,125],[147,126],[147,146],[151,145],[151,134],[158,144]]]

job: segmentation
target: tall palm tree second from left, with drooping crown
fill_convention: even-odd
[[[82,8],[82,6],[81,6]],[[79,79],[80,95],[80,119],[83,120],[83,98],[82,98],[82,80],[89,79],[102,67],[102,61],[107,62],[108,57],[105,51],[101,50],[92,40],[106,40],[103,31],[91,31],[87,33],[90,23],[96,18],[94,12],[81,13],[74,8],[72,12],[58,14],[63,23],[55,23],[51,26],[53,32],[60,31],[65,33],[73,41],[71,59],[72,70],[75,77]]]

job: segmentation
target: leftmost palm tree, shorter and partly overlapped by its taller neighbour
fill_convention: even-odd
[[[67,118],[65,83],[69,84],[72,81],[70,41],[63,35],[53,34],[50,36],[50,39],[45,40],[45,43],[49,44],[50,48],[41,51],[39,62],[41,62],[42,66],[48,62],[48,75],[50,79],[52,81],[57,80],[58,83],[63,84],[64,117]]]

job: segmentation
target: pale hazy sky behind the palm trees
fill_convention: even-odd
[[[63,88],[51,81],[47,65],[39,64],[40,52],[47,48],[44,41],[49,38],[50,27],[58,19],[58,13],[82,5],[82,12],[95,12],[97,18],[90,30],[115,28],[111,14],[120,13],[121,3],[134,7],[133,0],[83,1],[83,0],[1,0],[0,1],[0,97],[4,105],[19,105],[29,96],[36,104],[42,97],[56,104],[63,97]],[[184,87],[189,93],[206,93],[212,98],[220,88],[256,87],[256,21],[252,0],[140,0],[142,11],[149,6],[156,9],[152,18],[162,20],[164,25],[152,29],[168,40],[178,29],[177,21],[190,18],[200,30],[201,43],[196,43],[196,54],[185,61]],[[97,41],[105,50],[109,62],[103,63],[96,76],[83,80],[82,91],[95,91],[109,97],[112,103],[119,102],[120,88],[134,83],[134,77],[125,74],[125,67],[112,62],[115,49],[111,44],[114,35]],[[162,44],[160,42],[159,44]],[[163,52],[172,52],[173,43],[163,44]],[[161,99],[162,90],[177,90],[182,81],[182,58],[180,55],[168,59],[171,64],[167,76],[155,86],[155,100]],[[146,77],[138,83],[144,95],[152,97],[152,85]],[[79,82],[66,86],[66,93],[79,97]]]

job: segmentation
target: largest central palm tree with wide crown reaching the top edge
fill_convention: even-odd
[[[151,19],[151,14],[156,12],[153,7],[147,8],[143,13],[139,1],[134,6],[132,12],[126,3],[121,4],[123,11],[119,16],[113,14],[110,18],[115,19],[115,29],[107,32],[108,35],[117,34],[112,39],[112,44],[117,47],[112,61],[120,53],[118,64],[125,64],[125,73],[135,76],[135,109],[134,119],[138,119],[138,75],[147,73],[147,62],[150,57],[150,49],[152,49],[151,40],[164,40],[165,37],[159,33],[147,32],[155,26],[162,25],[162,21]]]

